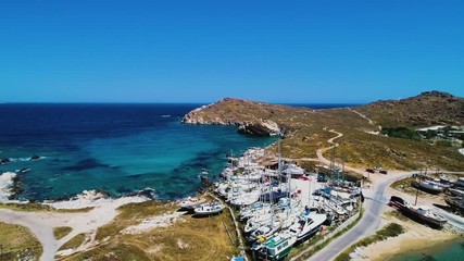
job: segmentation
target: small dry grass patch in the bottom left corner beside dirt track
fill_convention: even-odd
[[[22,257],[39,259],[42,247],[27,227],[0,222],[0,260],[18,260]],[[20,257],[20,258],[18,258]]]

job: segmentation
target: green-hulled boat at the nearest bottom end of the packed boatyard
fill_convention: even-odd
[[[266,239],[258,251],[258,260],[281,260],[291,251],[297,237],[283,231]]]

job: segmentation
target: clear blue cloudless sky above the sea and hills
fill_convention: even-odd
[[[0,1],[0,101],[464,97],[464,1]]]

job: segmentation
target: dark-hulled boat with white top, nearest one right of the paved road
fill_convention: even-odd
[[[436,228],[442,228],[448,220],[435,212],[429,208],[424,206],[412,206],[409,202],[404,201],[402,198],[392,196],[390,198],[389,204],[397,208],[404,215],[410,216],[413,220],[426,223]]]

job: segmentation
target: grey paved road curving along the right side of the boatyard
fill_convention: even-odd
[[[411,173],[404,173],[391,176],[376,185],[372,191],[366,191],[365,210],[361,221],[342,236],[335,239],[324,249],[312,256],[309,260],[334,260],[346,248],[376,231],[388,201],[388,199],[385,198],[385,188],[394,181],[407,177],[410,175]]]

